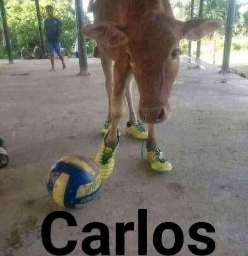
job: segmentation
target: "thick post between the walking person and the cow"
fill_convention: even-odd
[[[81,28],[84,21],[83,1],[75,0],[75,11],[77,21],[77,36],[78,36],[78,55],[79,55],[79,67],[80,73],[78,75],[85,76],[90,75],[88,71],[87,53],[85,37],[81,33]]]

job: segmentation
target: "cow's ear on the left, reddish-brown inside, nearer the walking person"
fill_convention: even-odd
[[[98,23],[84,26],[81,32],[97,42],[107,46],[119,46],[128,42],[125,31],[125,26],[115,23]]]

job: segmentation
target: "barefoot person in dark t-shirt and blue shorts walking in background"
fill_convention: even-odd
[[[58,58],[60,58],[62,61],[63,69],[65,69],[66,65],[64,64],[60,48],[61,23],[58,18],[53,16],[53,7],[51,5],[46,6],[46,12],[48,17],[44,21],[44,28],[47,47],[50,51],[50,59],[52,64],[51,71],[55,70],[54,52],[57,53]]]

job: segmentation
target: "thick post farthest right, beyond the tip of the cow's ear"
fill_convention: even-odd
[[[227,7],[226,32],[223,50],[223,62],[221,72],[229,71],[230,52],[232,46],[232,27],[235,15],[236,0],[229,0]]]

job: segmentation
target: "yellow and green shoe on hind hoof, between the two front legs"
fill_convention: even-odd
[[[140,121],[128,121],[126,123],[125,132],[138,140],[146,140],[148,135],[145,124]]]

